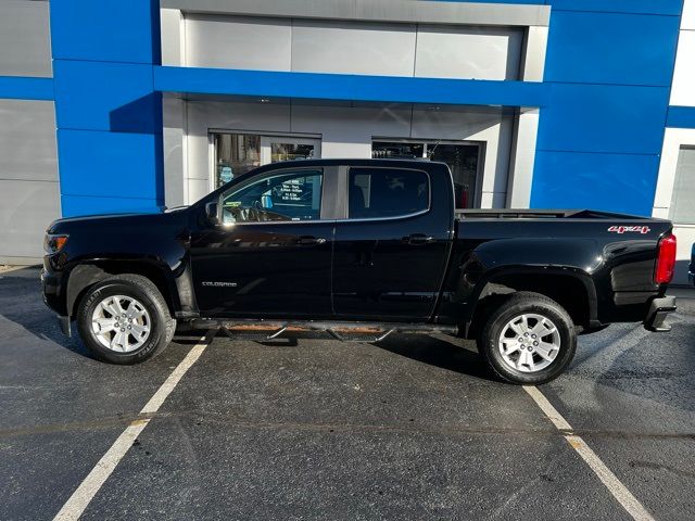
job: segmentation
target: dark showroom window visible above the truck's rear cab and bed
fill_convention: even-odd
[[[379,139],[371,143],[371,156],[379,158],[425,158],[446,163],[454,178],[457,208],[479,206],[482,144],[471,142]]]

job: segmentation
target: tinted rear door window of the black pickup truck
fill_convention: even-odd
[[[429,208],[430,182],[424,171],[351,168],[349,188],[351,219],[399,217]]]

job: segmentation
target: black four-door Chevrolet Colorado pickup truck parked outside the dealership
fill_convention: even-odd
[[[161,214],[60,219],[43,293],[70,334],[115,364],[177,327],[444,332],[476,339],[515,383],[557,377],[577,334],[668,331],[668,220],[592,211],[455,211],[446,165],[315,160],[240,176]]]

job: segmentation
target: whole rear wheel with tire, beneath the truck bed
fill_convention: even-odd
[[[574,357],[572,319],[555,301],[531,292],[514,293],[488,318],[478,339],[483,359],[503,380],[545,383]]]

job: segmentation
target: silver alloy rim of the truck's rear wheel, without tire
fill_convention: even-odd
[[[528,313],[509,320],[500,334],[504,361],[521,372],[538,372],[548,367],[560,350],[560,333],[551,319]]]

